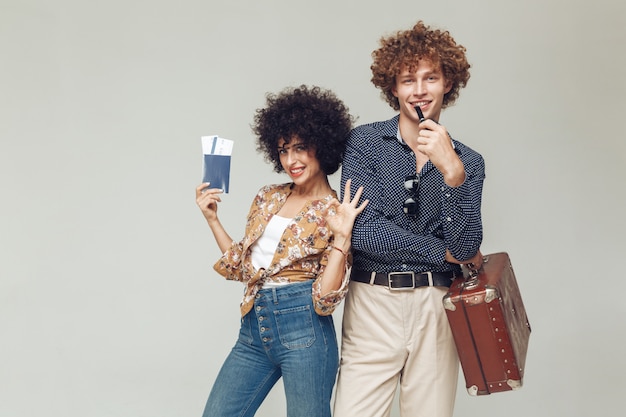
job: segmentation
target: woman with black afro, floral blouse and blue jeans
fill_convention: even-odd
[[[291,182],[256,195],[243,240],[217,217],[220,189],[196,202],[224,253],[214,268],[246,284],[239,338],[219,372],[204,417],[253,416],[283,378],[289,417],[330,417],[338,368],[332,312],[345,297],[350,239],[362,189],[343,202],[328,175],[339,169],[352,117],[336,96],[300,86],[267,96],[253,130],[258,150]]]

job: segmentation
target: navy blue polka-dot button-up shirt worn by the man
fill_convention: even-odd
[[[364,271],[460,271],[445,261],[469,259],[482,241],[480,206],[485,163],[480,154],[452,139],[466,178],[450,187],[428,161],[419,172],[418,215],[404,213],[410,196],[404,179],[416,174],[415,154],[399,139],[399,116],[359,126],[348,140],[341,172],[341,194],[352,179],[352,194],[363,187],[369,203],[352,231],[353,268]]]

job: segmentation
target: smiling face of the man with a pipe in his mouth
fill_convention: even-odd
[[[400,117],[419,123],[415,106],[420,106],[425,118],[438,122],[443,96],[451,88],[441,70],[433,66],[432,62],[422,59],[414,71],[411,72],[405,67],[396,76],[396,85],[392,93],[400,103]]]

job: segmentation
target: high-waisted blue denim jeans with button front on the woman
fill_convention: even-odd
[[[241,320],[203,417],[251,417],[281,377],[288,417],[330,417],[339,366],[332,316],[315,313],[312,281],[262,289]]]

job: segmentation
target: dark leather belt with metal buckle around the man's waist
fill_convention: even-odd
[[[454,271],[446,272],[368,272],[352,270],[350,280],[370,285],[382,285],[390,290],[412,290],[419,287],[449,287]]]

